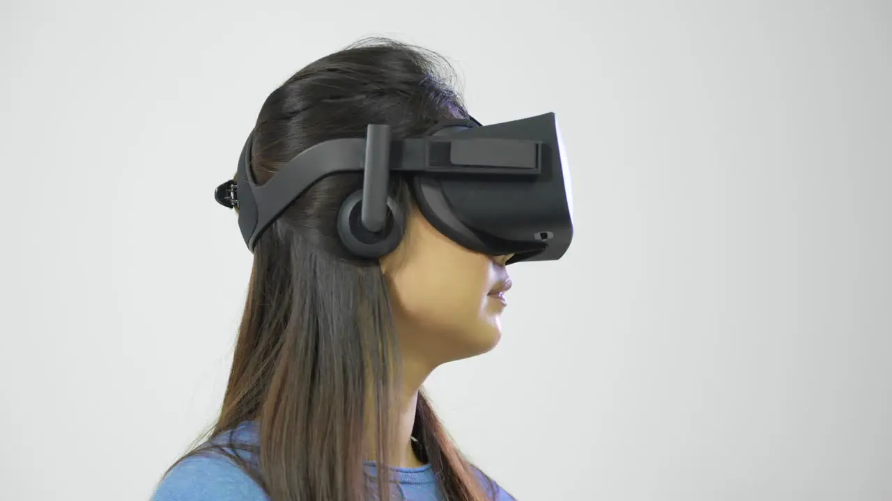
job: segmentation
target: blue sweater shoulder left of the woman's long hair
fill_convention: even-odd
[[[268,501],[254,480],[224,456],[186,458],[161,480],[152,501]]]

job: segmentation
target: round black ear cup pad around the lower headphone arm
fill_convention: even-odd
[[[387,221],[380,232],[370,232],[362,226],[362,190],[357,190],[341,204],[337,218],[337,233],[344,247],[366,259],[378,259],[400,245],[406,230],[406,215],[400,204],[387,196]]]

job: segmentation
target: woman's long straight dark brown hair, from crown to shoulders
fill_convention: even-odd
[[[260,110],[254,176],[263,183],[310,146],[364,136],[369,123],[389,124],[399,138],[467,117],[453,75],[436,53],[383,38],[310,63]],[[401,374],[388,285],[376,261],[344,249],[335,226],[342,201],[361,184],[359,173],[323,178],[257,243],[226,395],[210,433],[253,421],[259,444],[204,442],[180,461],[209,451],[228,456],[272,501],[353,501],[375,491],[390,498],[386,458]],[[394,179],[392,190],[410,203],[403,179]],[[491,481],[458,452],[423,392],[413,438],[447,499],[487,498],[483,483],[491,488]],[[364,466],[368,444],[384,466],[374,469],[375,481]]]

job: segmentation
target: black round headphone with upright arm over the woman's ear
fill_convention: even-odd
[[[356,256],[378,259],[400,245],[406,215],[390,193],[391,128],[368,126],[362,189],[341,204],[337,233]]]

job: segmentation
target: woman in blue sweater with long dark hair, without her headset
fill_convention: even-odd
[[[371,40],[298,71],[260,110],[254,177],[370,123],[398,139],[466,119],[438,63]],[[361,185],[361,174],[323,178],[260,235],[212,438],[169,469],[155,501],[512,499],[468,464],[420,390],[437,365],[499,341],[510,256],[438,233],[397,178],[405,236],[360,259],[336,218]]]

